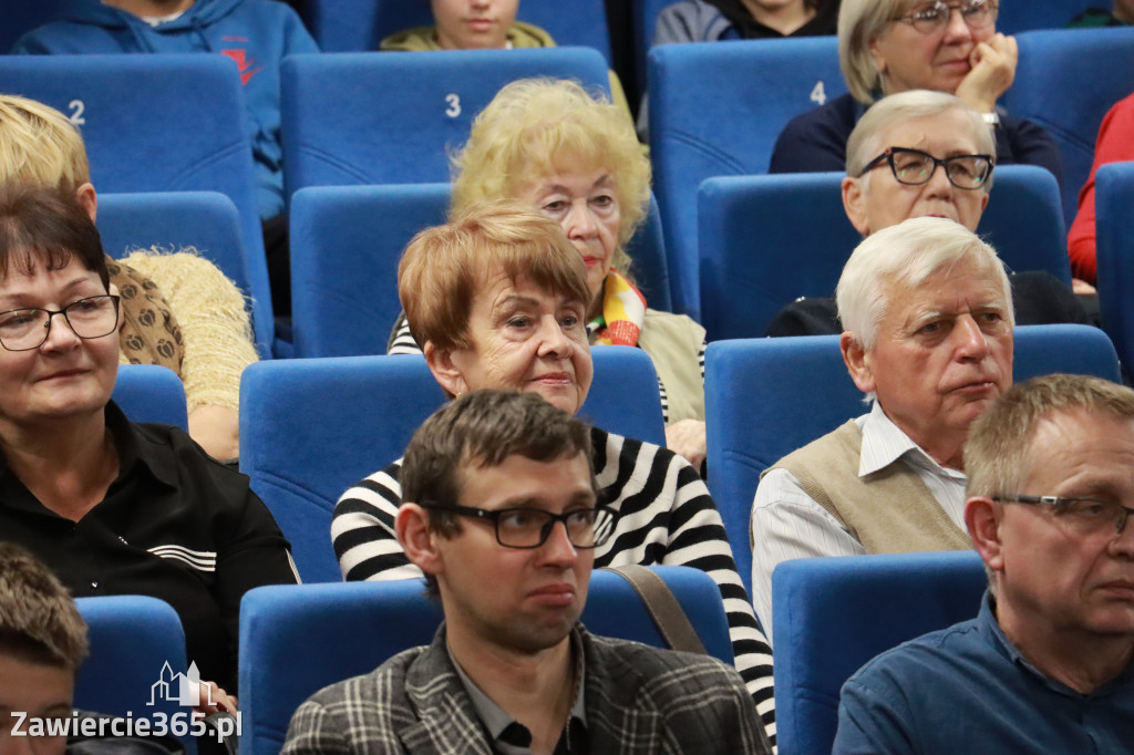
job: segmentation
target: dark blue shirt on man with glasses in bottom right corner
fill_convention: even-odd
[[[1134,664],[1090,695],[1042,673],[976,619],[888,651],[843,686],[833,755],[1134,753]]]

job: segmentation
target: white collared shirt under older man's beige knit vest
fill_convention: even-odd
[[[858,476],[902,461],[917,473],[949,519],[965,529],[963,472],[934,461],[895,425],[878,401],[855,419],[862,429]],[[752,504],[752,604],[769,642],[772,637],[772,569],[780,561],[816,555],[863,555],[866,551],[831,514],[807,495],[787,469],[764,475]]]

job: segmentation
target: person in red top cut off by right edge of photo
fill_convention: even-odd
[[[1067,252],[1070,254],[1070,269],[1076,278],[1098,282],[1095,264],[1094,232],[1094,175],[1099,166],[1108,162],[1134,160],[1134,94],[1119,100],[1110,109],[1102,126],[1099,127],[1099,141],[1094,145],[1094,163],[1091,175],[1078,193],[1078,212],[1067,234]]]

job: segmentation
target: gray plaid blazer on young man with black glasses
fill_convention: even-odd
[[[595,637],[579,625],[592,753],[771,754],[739,675],[720,661]],[[445,646],[428,647],[322,689],[296,711],[285,755],[492,755]]]

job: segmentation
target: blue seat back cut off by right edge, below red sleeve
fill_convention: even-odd
[[[1134,364],[1134,162],[1100,166],[1094,176],[1095,254],[1102,328],[1123,364]]]

